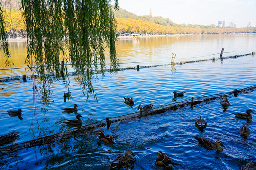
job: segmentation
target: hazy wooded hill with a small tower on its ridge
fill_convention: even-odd
[[[136,14],[133,14],[131,12],[127,12],[126,10],[122,9],[120,6],[119,6],[119,10],[117,11],[114,10],[114,12],[115,12],[115,17],[117,18],[124,18],[124,19],[130,18],[130,19],[154,22],[155,24],[160,24],[163,26],[173,26],[175,24],[169,18],[165,19],[161,16],[156,16],[156,17],[152,17],[150,15],[137,16]]]

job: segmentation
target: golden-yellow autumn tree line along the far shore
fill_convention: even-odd
[[[20,10],[5,10],[4,20],[7,38],[27,37],[24,18]],[[131,33],[141,35],[165,35],[165,34],[229,34],[229,33],[253,33],[256,27],[211,27],[195,28],[188,26],[164,26],[143,20],[131,18],[117,18],[117,32],[119,36],[130,35]]]

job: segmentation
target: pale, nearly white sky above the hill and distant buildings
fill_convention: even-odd
[[[114,1],[114,0],[112,0]],[[256,0],[118,0],[119,6],[136,15],[170,18],[177,24],[218,25],[230,22],[247,27],[252,20],[256,25]]]

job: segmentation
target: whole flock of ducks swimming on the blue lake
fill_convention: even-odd
[[[173,93],[174,93],[174,97],[182,97],[182,96],[184,96],[184,93],[186,93],[186,92],[183,91],[183,92],[177,93],[176,91],[174,91]],[[70,97],[70,92],[64,93],[63,97],[64,98]],[[124,97],[124,100],[125,100],[125,103],[128,105],[134,104],[132,97],[131,98]],[[225,97],[220,102],[220,104],[223,107],[227,107],[230,105],[227,97]],[[72,113],[72,112],[78,111],[77,107],[78,106],[76,104],[74,104],[73,108],[61,108],[61,109],[64,110],[64,112]],[[142,105],[140,104],[138,106],[137,110],[143,111],[143,110],[149,110],[152,108],[153,108],[152,104],[148,104],[144,107],[142,107]],[[21,109],[18,109],[17,111],[16,110],[7,111],[7,113],[11,116],[21,115],[21,112],[22,112]],[[235,117],[238,119],[252,119],[251,113],[253,113],[253,111],[251,109],[248,109],[246,111],[246,114],[237,113],[237,112],[232,113],[232,114],[234,114]],[[82,120],[80,119],[81,117],[82,117],[81,114],[77,114],[75,120],[67,120],[67,122],[64,122],[64,123],[69,124],[69,125],[82,125]],[[202,119],[201,116],[199,116],[199,119],[197,119],[195,122],[195,126],[198,127],[200,130],[203,130],[204,128],[207,127],[207,122],[204,119]],[[250,129],[248,128],[248,126],[246,124],[243,123],[243,125],[239,128],[239,133],[241,136],[248,136],[248,135],[250,135]],[[104,135],[104,133],[102,131],[97,132],[96,135],[99,135],[98,136],[99,140],[101,140],[102,142],[104,142],[106,144],[115,144],[112,135],[106,136],[106,135]],[[12,132],[10,134],[0,136],[0,145],[8,144],[8,143],[14,141],[17,137],[18,137],[18,133],[16,133],[16,132]],[[199,144],[201,144],[203,147],[205,147],[208,150],[216,150],[217,152],[222,152],[223,151],[222,147],[226,148],[220,140],[213,142],[204,137],[195,137],[195,139],[198,141]],[[156,158],[156,161],[155,161],[156,166],[172,167],[174,165],[179,165],[178,163],[175,163],[174,161],[172,161],[171,158],[168,157],[166,154],[164,154],[162,151],[158,151],[157,154],[158,154],[158,157]],[[136,155],[129,149],[125,151],[124,155],[118,155],[113,161],[110,162],[110,170],[115,170],[117,168],[129,166],[130,161],[133,159],[132,156],[136,156]],[[249,162],[245,166],[243,165],[241,167],[241,170],[256,170],[256,161]]]

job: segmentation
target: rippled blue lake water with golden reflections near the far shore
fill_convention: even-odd
[[[10,44],[12,54],[17,54],[13,56],[13,67],[23,68],[25,43],[17,44]],[[169,64],[172,52],[177,54],[175,62],[210,59],[219,57],[221,48],[225,48],[223,57],[251,53],[256,51],[256,34],[143,37],[140,40],[119,40],[117,43],[121,67]],[[4,63],[2,55],[0,59]],[[98,102],[91,98],[89,103],[81,95],[82,90],[75,77],[71,76],[69,90],[72,97],[64,101],[63,92],[68,89],[65,81],[55,82],[52,86],[54,102],[45,113],[41,113],[40,98],[33,94],[32,80],[0,83],[1,135],[19,132],[19,138],[12,143],[16,144],[74,128],[63,122],[75,119],[75,114],[62,113],[61,110],[63,107],[73,107],[73,104],[78,105],[78,113],[83,116],[83,125],[86,125],[106,117],[136,112],[139,104],[154,104],[156,108],[192,97],[246,88],[256,85],[255,60],[256,56],[248,55],[174,67],[167,65],[139,71],[125,70],[115,75],[106,72],[104,79],[94,83]],[[0,68],[5,69],[2,63]],[[1,70],[1,75],[24,74],[24,70],[17,70]],[[184,97],[174,98],[173,91],[186,93]],[[127,96],[134,98],[132,107],[124,103],[123,97]],[[102,127],[84,136],[1,156],[0,167],[13,170],[107,170],[111,160],[126,149],[131,149],[137,155],[136,161],[125,169],[158,170],[154,165],[157,158],[155,152],[162,151],[180,164],[174,166],[175,170],[238,170],[242,165],[256,160],[255,113],[252,113],[252,120],[246,121],[235,119],[231,112],[245,113],[247,109],[256,112],[255,98],[255,91],[241,93],[238,97],[229,97],[231,105],[227,108],[220,105],[222,99],[217,99],[202,102],[194,106],[193,110],[188,107],[114,123],[109,130]],[[21,117],[6,113],[7,110],[19,108],[23,110]],[[208,124],[204,132],[194,126],[199,115]],[[251,130],[247,138],[239,135],[238,129],[242,123],[248,124]],[[34,131],[35,137],[29,129]],[[95,135],[98,130],[113,135],[116,144],[100,146]],[[222,153],[214,150],[209,152],[198,145],[194,139],[196,136],[214,142],[221,140],[226,148]],[[11,144],[5,146],[8,145]]]

